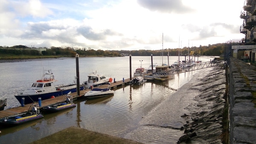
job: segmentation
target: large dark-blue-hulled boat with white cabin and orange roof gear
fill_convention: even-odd
[[[31,104],[41,100],[57,97],[60,95],[66,95],[68,92],[77,92],[76,82],[73,84],[60,84],[54,85],[55,76],[51,72],[51,69],[44,70],[44,74],[40,80],[35,81],[29,88],[15,89],[15,98],[20,102],[21,105]],[[83,90],[84,86],[80,85],[80,90]]]

